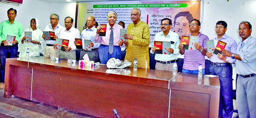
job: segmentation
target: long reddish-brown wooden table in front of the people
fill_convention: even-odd
[[[218,77],[149,69],[80,67],[48,57],[6,59],[12,95],[102,118],[217,118]]]

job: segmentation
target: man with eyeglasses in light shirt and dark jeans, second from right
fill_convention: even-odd
[[[225,21],[218,21],[215,26],[215,31],[217,36],[213,39],[215,47],[218,41],[226,42],[225,49],[235,53],[236,52],[236,41],[227,36],[228,24]],[[207,57],[211,61],[209,68],[210,75],[218,75],[220,81],[220,99],[219,99],[219,118],[231,118],[233,115],[233,83],[232,83],[232,74],[233,69],[231,63],[235,61],[231,57],[223,56],[218,53],[212,54],[211,52],[206,53]]]

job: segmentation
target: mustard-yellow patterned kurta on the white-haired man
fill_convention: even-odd
[[[134,58],[137,58],[138,68],[149,69],[149,26],[143,22],[135,24],[130,23],[127,27],[127,34],[133,36],[133,40],[127,40],[126,57],[132,63],[130,67],[133,67]]]

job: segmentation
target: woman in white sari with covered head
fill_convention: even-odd
[[[30,26],[25,31],[32,32],[32,41],[29,43],[24,43],[26,40],[25,32],[21,35],[19,42],[20,54],[19,57],[26,57],[27,48],[29,48],[29,57],[39,56],[39,53],[44,53],[44,39],[42,38],[43,32],[39,29],[40,22],[36,18],[30,20]]]

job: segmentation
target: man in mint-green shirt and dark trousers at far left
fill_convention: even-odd
[[[10,8],[7,11],[8,20],[0,23],[0,89],[4,89],[5,80],[5,59],[16,58],[18,53],[18,40],[23,33],[23,26],[15,20],[17,10]],[[6,41],[7,35],[16,36],[13,45],[9,46]]]

